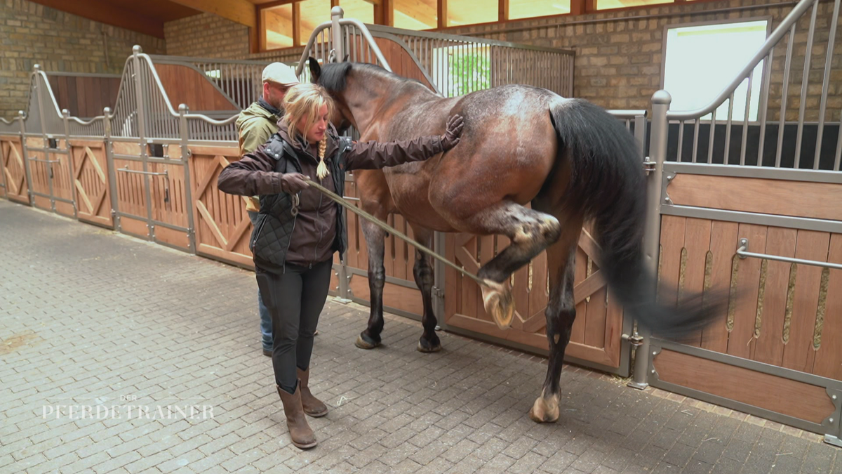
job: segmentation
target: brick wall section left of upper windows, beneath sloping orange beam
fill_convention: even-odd
[[[191,57],[248,56],[248,26],[201,13],[168,21],[163,27],[167,54]]]

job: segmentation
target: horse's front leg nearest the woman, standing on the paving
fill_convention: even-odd
[[[379,218],[379,216],[378,216]],[[368,327],[360,333],[355,342],[360,349],[373,349],[381,343],[383,332],[383,286],[386,284],[386,268],[383,267],[383,253],[386,247],[386,231],[360,219],[369,254],[369,292],[371,312]]]

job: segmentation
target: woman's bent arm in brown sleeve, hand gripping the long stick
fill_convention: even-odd
[[[225,167],[216,180],[222,192],[240,196],[278,194],[281,191],[295,194],[307,187],[304,176],[298,173],[275,173],[276,160],[262,145],[242,159]]]

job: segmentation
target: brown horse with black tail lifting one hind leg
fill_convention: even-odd
[[[546,89],[511,85],[451,99],[381,67],[342,62],[319,67],[313,82],[333,95],[361,140],[402,140],[441,134],[447,118],[465,117],[461,142],[425,162],[354,171],[361,206],[385,220],[401,213],[417,239],[434,231],[503,234],[511,245],[480,268],[486,310],[509,324],[514,304],[505,287],[512,272],[547,251],[550,300],[546,337],[550,360],[543,391],[530,410],[537,422],[556,421],[564,350],[576,306],[574,256],[585,219],[594,219],[600,266],[626,311],[664,336],[698,330],[717,304],[682,295],[678,309],[655,302],[654,276],[643,268],[645,186],[642,157],[631,133],[605,110]],[[531,208],[525,207],[531,203]],[[369,255],[371,313],[357,346],[373,348],[383,331],[385,233],[362,224]],[[424,300],[418,350],[440,349],[434,327],[433,270],[416,252],[415,281]]]

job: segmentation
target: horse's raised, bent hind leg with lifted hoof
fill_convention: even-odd
[[[529,263],[547,246],[558,240],[561,227],[558,219],[510,201],[499,202],[493,207],[467,219],[473,234],[504,234],[511,245],[483,265],[477,277],[482,278],[482,302],[501,328],[511,325],[514,300],[505,282],[518,268]]]

